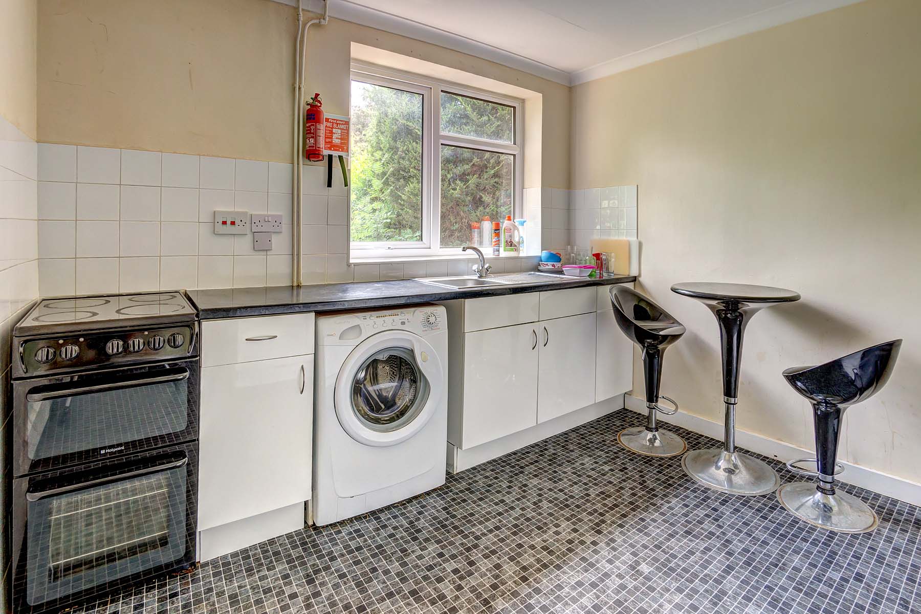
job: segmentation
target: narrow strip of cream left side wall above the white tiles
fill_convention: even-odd
[[[35,139],[36,0],[0,0],[0,115]]]

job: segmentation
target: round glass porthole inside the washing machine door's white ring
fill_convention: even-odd
[[[428,380],[406,348],[386,348],[358,367],[352,382],[352,407],[372,431],[397,431],[419,415],[428,400]]]

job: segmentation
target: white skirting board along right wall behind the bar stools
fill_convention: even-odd
[[[646,415],[646,400],[627,394],[624,397],[624,402],[628,410]],[[717,423],[683,411],[679,411],[673,416],[663,416],[662,420],[686,428],[689,431],[694,431],[694,433],[705,434],[719,441],[723,440],[723,423],[721,422]],[[815,458],[815,450],[804,450],[764,435],[747,433],[738,428],[736,429],[736,445],[784,462],[793,458]],[[845,475],[842,476],[844,478],[842,481],[865,488],[868,491],[879,492],[908,504],[921,505],[921,484],[896,478],[875,469],[867,469],[845,461],[840,462],[846,469]],[[809,478],[803,478],[803,481],[807,480]]]

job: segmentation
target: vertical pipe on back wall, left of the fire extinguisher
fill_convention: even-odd
[[[304,23],[304,0],[297,0],[297,46],[295,53],[295,85],[294,85],[294,172],[292,173],[292,189],[294,194],[291,199],[292,226],[291,237],[294,241],[291,252],[294,254],[292,261],[292,285],[301,283],[301,245],[300,231],[304,218],[304,75],[307,68],[307,30],[314,24],[326,25],[330,17],[330,2],[323,1],[323,17],[310,19]]]

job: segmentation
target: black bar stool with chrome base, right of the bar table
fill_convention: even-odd
[[[819,484],[798,481],[784,484],[777,499],[794,516],[818,527],[842,533],[866,533],[879,520],[869,505],[853,494],[836,492],[834,476],[844,469],[835,462],[838,434],[845,410],[880,391],[892,375],[902,340],[880,343],[815,366],[794,366],[784,371],[787,383],[810,400],[815,419],[816,458],[798,458],[787,467],[803,475],[817,476]],[[796,466],[814,462],[817,471]]]

